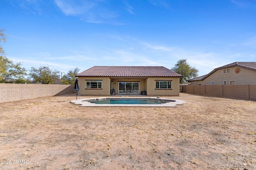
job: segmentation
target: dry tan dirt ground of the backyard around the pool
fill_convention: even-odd
[[[0,169],[256,169],[256,101],[182,93],[166,97],[186,102],[176,108],[79,107],[75,98],[1,103]]]

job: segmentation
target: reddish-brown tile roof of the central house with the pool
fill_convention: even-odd
[[[182,77],[163,66],[93,66],[76,76]]]

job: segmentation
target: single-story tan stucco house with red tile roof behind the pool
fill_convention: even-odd
[[[109,96],[112,88],[116,94],[179,96],[182,77],[163,66],[93,66],[76,76],[83,96]]]

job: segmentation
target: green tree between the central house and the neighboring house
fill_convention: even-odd
[[[171,70],[182,75],[180,78],[180,84],[184,84],[187,82],[187,80],[198,76],[198,69],[191,67],[187,63],[186,59],[179,60],[177,64],[171,68]]]

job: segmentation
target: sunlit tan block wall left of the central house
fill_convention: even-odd
[[[74,85],[0,83],[0,103],[71,93]]]

